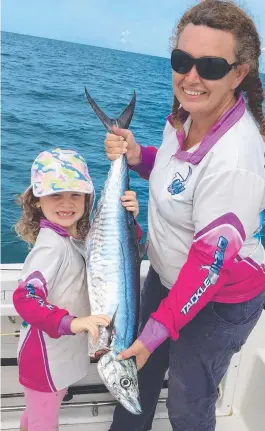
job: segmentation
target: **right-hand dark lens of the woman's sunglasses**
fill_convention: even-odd
[[[229,65],[223,58],[200,58],[197,60],[197,70],[204,79],[217,80],[229,72]]]

